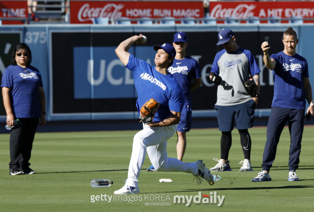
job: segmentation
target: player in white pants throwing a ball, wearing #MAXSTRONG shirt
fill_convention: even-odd
[[[167,69],[176,56],[175,48],[170,44],[154,46],[156,67],[139,60],[128,52],[135,43],[143,44],[142,34],[134,35],[123,41],[116,49],[122,63],[133,72],[134,85],[138,94],[136,107],[138,115],[142,105],[154,98],[160,102],[152,123],[143,124],[143,130],[133,139],[128,179],[124,187],[114,194],[139,193],[138,177],[144,163],[145,153],[157,171],[183,171],[202,177],[213,185],[213,177],[201,160],[195,163],[183,163],[175,158],[167,157],[167,140],[176,132],[184,105],[183,92],[172,74]],[[145,151],[146,150],[146,151]]]

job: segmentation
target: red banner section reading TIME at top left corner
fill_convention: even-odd
[[[28,18],[26,0],[1,0],[1,18]],[[24,24],[24,21],[2,21],[2,24]]]

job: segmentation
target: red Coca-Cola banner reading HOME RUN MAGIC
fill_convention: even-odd
[[[104,17],[138,19],[148,17],[204,17],[202,1],[71,1],[71,24],[92,24],[93,19]]]

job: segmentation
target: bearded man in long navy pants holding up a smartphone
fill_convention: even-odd
[[[282,38],[285,49],[270,57],[267,53],[267,42],[262,43],[265,66],[273,70],[274,97],[267,125],[267,140],[263,153],[263,170],[253,182],[271,181],[269,170],[275,160],[277,145],[281,132],[288,120],[291,138],[289,152],[288,181],[299,181],[295,174],[301,152],[301,141],[304,127],[305,99],[310,106],[307,115],[313,116],[312,87],[309,80],[308,63],[305,58],[295,53],[296,32],[289,27]]]

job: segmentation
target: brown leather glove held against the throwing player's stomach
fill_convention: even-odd
[[[152,123],[159,105],[160,103],[153,98],[148,100],[141,108],[140,119],[142,120],[140,122],[143,121],[144,124]]]

